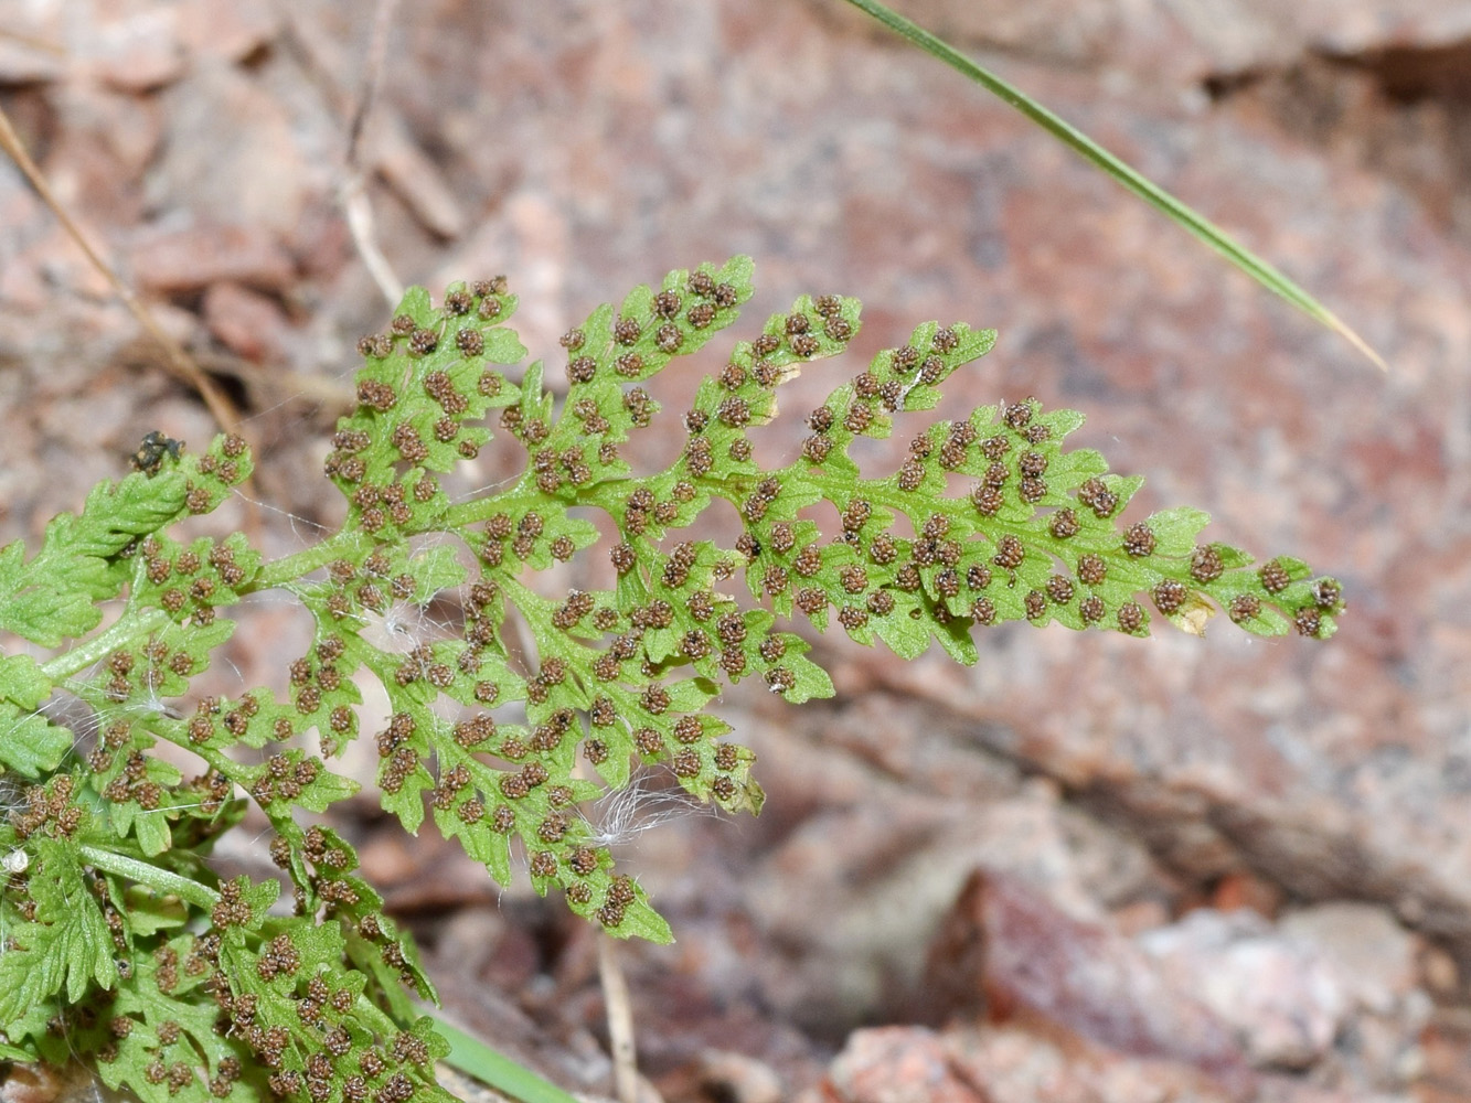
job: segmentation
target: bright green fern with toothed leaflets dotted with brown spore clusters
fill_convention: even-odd
[[[407,1000],[430,982],[352,849],[312,824],[356,790],[327,763],[366,732],[382,806],[405,829],[431,818],[500,882],[521,856],[537,891],[559,888],[615,935],[662,941],[666,924],[580,807],[643,766],[759,810],[753,754],[712,703],[746,678],[788,702],[831,694],[803,632],[836,624],[903,659],[937,641],[965,663],[1006,621],[1144,635],[1150,610],[1199,632],[1224,609],[1264,635],[1333,632],[1339,584],[1300,560],[1256,568],[1200,543],[1194,509],[1122,524],[1140,479],[1065,449],[1083,421],[1071,410],[981,407],[922,428],[893,474],[863,476],[853,441],[931,409],[991,331],[921,325],[812,410],[799,454],[775,469],[749,431],[802,365],[844,350],[852,299],[797,300],[734,346],[683,422],[660,415],[643,384],[736,322],[750,274],[737,257],[599,307],[563,338],[560,401],[540,363],[519,381],[502,371],[525,354],[503,281],[452,287],[440,307],[410,291],[360,343],[357,409],[332,438],[327,474],[347,518],[287,559],[262,563],[238,534],[171,535],[247,478],[237,437],[203,454],[152,440],[143,469],[59,516],[35,556],[0,550],[0,629],[60,649],[0,659],[13,806],[0,825],[0,1057],[79,1054],[147,1103],[438,1093],[444,1047]],[[493,410],[525,468],[452,500],[440,475],[477,456]],[[619,447],[652,426],[685,443],[640,474]],[[715,499],[740,516],[730,546],[702,535]],[[824,531],[815,518],[833,510],[840,524]],[[608,587],[552,591],[549,569],[580,556],[603,557]],[[287,688],[191,693],[234,631],[229,607],[271,588],[316,625]],[[405,649],[381,631],[431,603],[453,610],[440,638]],[[116,615],[99,632],[104,607]],[[365,677],[384,715],[363,710]],[[57,696],[88,719],[49,719]],[[199,774],[156,756],[160,741],[191,752]],[[221,882],[206,863],[247,802],[275,831],[290,915],[271,907],[275,882]]]

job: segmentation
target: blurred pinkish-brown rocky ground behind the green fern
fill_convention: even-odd
[[[400,6],[360,159],[378,243],[432,288],[509,275],[553,375],[594,304],[737,251],[752,328],[859,296],[858,359],[918,321],[993,325],[941,413],[1081,409],[1083,443],[1147,476],[1140,516],[1199,504],[1214,538],[1337,574],[1349,613],[1330,643],[1015,627],[974,669],[825,643],[837,702],[731,694],[762,818],[656,790],[631,812],[622,860],[680,937],[624,953],[644,1074],[721,1103],[1471,1099],[1471,3],[897,6],[1390,371],[840,0]],[[324,431],[387,316],[340,200],[371,25],[328,0],[0,0],[0,106],[243,410],[266,504],[221,524],[275,554],[341,515]],[[809,369],[788,412],[855,369]],[[696,372],[671,375],[678,412]],[[3,540],[144,432],[213,432],[9,163],[0,412]],[[249,618],[237,691],[281,682],[307,631]],[[591,932],[356,812],[449,1009],[608,1091]]]

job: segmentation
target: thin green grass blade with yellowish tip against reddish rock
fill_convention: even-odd
[[[1009,103],[1012,107],[1019,110],[1028,119],[1036,122],[1050,135],[1059,141],[1071,146],[1080,154],[1087,157],[1090,162],[1103,169],[1108,175],[1122,184],[1125,188],[1133,191],[1136,196],[1143,199],[1156,210],[1162,212],[1168,218],[1178,222],[1181,226],[1189,229],[1197,238],[1205,241],[1211,249],[1218,251],[1239,269],[1246,272],[1252,279],[1259,282],[1269,291],[1277,293],[1289,303],[1296,306],[1305,315],[1319,322],[1321,325],[1333,329],[1346,341],[1349,341],[1355,349],[1358,349],[1371,362],[1378,365],[1380,369],[1387,369],[1384,359],[1370,347],[1368,341],[1359,337],[1353,329],[1350,329],[1337,315],[1334,315],[1328,307],[1314,299],[1311,294],[1303,291],[1297,284],[1294,284],[1287,275],[1280,272],[1272,265],[1262,260],[1259,256],[1252,253],[1249,249],[1242,246],[1239,241],[1233,240],[1225,231],[1214,225],[1208,219],[1202,218],[1192,207],[1181,203],[1178,199],[1171,196],[1164,188],[1152,184],[1149,179],[1141,176],[1139,172],[1131,169],[1122,160],[1115,157],[1112,153],[1105,150],[1096,141],[1089,138],[1086,134],[1078,131],[1071,124],[1053,115],[1050,110],[1043,107],[1040,103],[1033,100],[1030,96],[1022,93],[1019,88],[1008,84],[1000,76],[980,65],[972,62],[965,54],[955,50],[944,40],[925,31],[922,26],[905,19],[902,15],[893,9],[877,3],[877,0],[847,0],[847,3],[858,7],[861,12],[872,16],[881,22],[888,29],[903,35],[911,43],[918,46],[925,53],[938,57],[941,62],[949,65],[952,69],[964,74],[975,84],[981,85],[987,91],[999,96],[1002,100]]]

